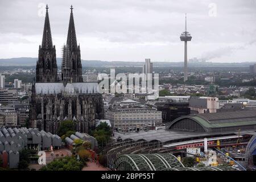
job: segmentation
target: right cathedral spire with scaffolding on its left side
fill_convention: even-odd
[[[80,46],[77,46],[76,41],[76,30],[72,5],[69,18],[67,44],[63,47],[61,72],[64,85],[67,84],[67,82],[82,82]]]

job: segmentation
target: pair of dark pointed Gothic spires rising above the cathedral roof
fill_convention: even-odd
[[[51,27],[49,23],[48,5],[46,5],[46,18],[44,20],[44,30],[42,46],[39,46],[39,57],[36,63],[36,81],[37,82],[56,82],[57,63],[56,50],[52,44]],[[73,18],[73,6],[71,5],[71,14],[69,18],[67,45],[63,50],[65,57],[62,65],[62,81],[82,82],[80,47],[77,47],[75,22]],[[63,52],[63,55],[64,55]],[[65,68],[64,68],[65,67]],[[64,72],[65,71],[65,72]],[[64,79],[65,77],[65,79]]]

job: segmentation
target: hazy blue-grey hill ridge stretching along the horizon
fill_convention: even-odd
[[[10,59],[0,59],[0,66],[35,66],[37,58],[35,57],[16,57]],[[152,61],[154,67],[183,67],[180,62]],[[248,67],[256,62],[243,63],[189,63],[189,67]],[[143,61],[101,61],[101,60],[82,60],[82,67],[142,67]],[[57,58],[58,67],[61,66],[61,59]]]

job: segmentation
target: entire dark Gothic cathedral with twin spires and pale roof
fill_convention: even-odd
[[[80,46],[77,46],[72,6],[67,44],[62,54],[61,76],[58,77],[56,49],[46,6],[36,80],[32,85],[30,125],[56,134],[60,123],[69,120],[74,122],[76,131],[88,133],[94,127],[95,119],[104,118],[104,107],[98,83],[82,81]]]

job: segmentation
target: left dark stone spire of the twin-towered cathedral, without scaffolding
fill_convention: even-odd
[[[36,62],[36,82],[58,81],[56,49],[55,46],[52,46],[48,9],[48,5],[46,5],[42,46],[39,46],[38,61]]]

